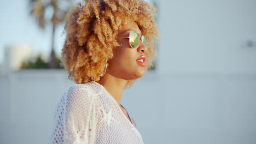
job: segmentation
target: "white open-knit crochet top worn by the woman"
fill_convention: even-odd
[[[143,143],[117,101],[95,81],[74,84],[56,106],[49,143]]]

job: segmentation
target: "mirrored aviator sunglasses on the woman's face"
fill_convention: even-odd
[[[139,35],[140,34],[136,32],[130,32],[129,37],[118,39],[129,39],[129,43],[132,48],[137,48],[140,41],[142,41],[142,43],[148,47],[147,38],[144,35],[139,37]]]

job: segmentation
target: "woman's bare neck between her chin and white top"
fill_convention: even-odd
[[[118,77],[114,77],[106,73],[103,77],[101,77],[100,81],[97,81],[102,85],[110,95],[117,101],[118,105],[120,106],[120,101],[123,93],[123,89],[127,80],[120,79]]]

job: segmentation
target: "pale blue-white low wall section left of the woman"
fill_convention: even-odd
[[[64,70],[21,70],[1,75],[0,143],[47,143],[55,105],[72,83]]]

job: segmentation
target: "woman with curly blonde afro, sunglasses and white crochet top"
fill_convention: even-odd
[[[56,107],[50,143],[143,143],[120,100],[154,61],[155,16],[139,0],[92,0],[69,10],[62,63],[77,84]]]

